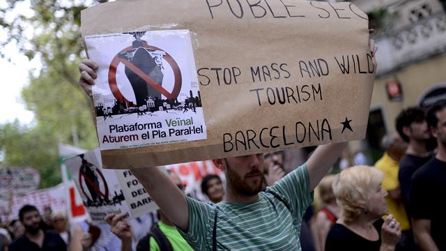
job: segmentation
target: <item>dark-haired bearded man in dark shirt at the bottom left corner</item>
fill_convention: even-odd
[[[42,218],[35,206],[25,205],[20,208],[19,219],[23,223],[26,233],[10,245],[10,251],[66,250],[66,244],[59,234],[41,229]]]

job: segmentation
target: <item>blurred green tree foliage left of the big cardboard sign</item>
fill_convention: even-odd
[[[77,86],[77,65],[85,54],[80,12],[98,2],[102,1],[7,0],[0,5],[0,27],[9,35],[0,41],[1,56],[5,45],[14,43],[21,54],[29,59],[37,56],[42,63],[22,90],[35,125],[17,121],[0,125],[0,149],[5,153],[0,164],[35,167],[43,177],[41,187],[60,182],[59,140],[84,149],[98,145],[90,100]],[[28,3],[33,15],[17,13],[17,6]]]

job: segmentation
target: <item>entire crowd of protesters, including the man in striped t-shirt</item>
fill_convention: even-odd
[[[89,93],[97,66],[87,60],[79,69]],[[226,183],[205,176],[207,201],[185,196],[175,172],[134,169],[160,206],[141,229],[124,213],[107,215],[107,228],[26,205],[0,225],[0,251],[446,250],[439,205],[446,192],[446,100],[427,111],[404,109],[396,127],[397,134],[383,137],[385,153],[374,166],[363,165],[367,158],[358,152],[360,165],[345,167],[344,143],[318,146],[299,165],[287,151],[213,160]]]

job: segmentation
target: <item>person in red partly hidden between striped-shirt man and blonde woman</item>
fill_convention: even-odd
[[[327,239],[328,231],[332,228],[339,218],[339,206],[334,197],[332,184],[334,175],[328,175],[322,178],[318,185],[319,195],[323,202],[323,206],[316,214],[314,220],[313,235],[316,244],[316,250],[325,250],[325,240]]]

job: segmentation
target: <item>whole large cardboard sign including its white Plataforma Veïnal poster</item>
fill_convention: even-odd
[[[376,67],[351,3],[116,1],[82,11],[82,36],[107,168],[365,135]]]

